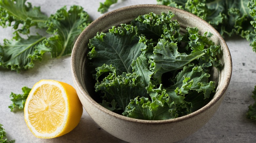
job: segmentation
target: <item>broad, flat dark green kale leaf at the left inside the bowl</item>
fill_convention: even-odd
[[[140,56],[141,49],[147,47],[144,42],[139,42],[136,34],[136,27],[126,24],[97,34],[89,43],[91,51],[88,57],[92,59],[92,66],[112,65],[117,75],[132,72],[133,60]]]

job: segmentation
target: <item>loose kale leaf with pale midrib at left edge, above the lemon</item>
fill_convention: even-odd
[[[51,51],[43,44],[45,39],[40,35],[24,39],[18,33],[12,40],[5,39],[0,45],[0,66],[17,72],[32,68],[34,60],[41,60],[45,52]]]

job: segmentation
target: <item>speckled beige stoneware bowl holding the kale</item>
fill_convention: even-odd
[[[211,40],[215,44],[221,45],[222,56],[219,57],[223,69],[212,70],[214,80],[218,87],[213,99],[203,108],[189,115],[168,120],[141,120],[128,118],[99,105],[93,96],[94,84],[92,75],[86,70],[87,51],[89,39],[93,38],[97,32],[106,32],[113,25],[130,23],[139,15],[154,12],[172,11],[175,19],[178,20],[182,28],[187,26],[197,26],[202,33],[210,31],[213,33]],[[232,61],[229,49],[221,35],[207,22],[199,17],[183,11],[181,9],[162,5],[135,5],[111,11],[92,22],[78,37],[71,56],[72,77],[75,89],[80,101],[92,119],[109,134],[116,136],[127,142],[156,143],[156,142],[176,142],[199,130],[215,114],[219,108],[224,93],[228,87],[232,72]],[[85,129],[90,130],[90,129]]]

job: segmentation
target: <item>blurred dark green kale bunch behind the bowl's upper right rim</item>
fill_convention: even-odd
[[[242,35],[243,31],[253,30],[247,7],[248,0],[158,0],[159,4],[173,6],[191,12],[214,26],[220,34]]]

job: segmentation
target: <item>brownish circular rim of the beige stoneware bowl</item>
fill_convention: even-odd
[[[230,71],[229,75],[227,75],[226,82],[223,84],[223,88],[219,89],[221,90],[219,92],[219,94],[217,96],[214,96],[211,101],[209,103],[207,103],[205,106],[203,106],[202,108],[198,109],[197,111],[194,111],[188,115],[182,116],[182,117],[178,117],[178,118],[174,118],[174,119],[166,119],[166,120],[143,120],[143,119],[134,119],[134,118],[130,118],[130,117],[126,117],[120,114],[117,114],[115,112],[112,112],[106,108],[104,108],[103,106],[101,106],[99,103],[97,103],[89,94],[85,93],[86,91],[83,89],[82,84],[78,82],[78,76],[76,75],[76,71],[75,71],[75,64],[73,63],[73,59],[75,58],[75,55],[77,54],[77,46],[78,43],[81,43],[82,39],[83,39],[83,35],[86,34],[87,29],[89,29],[91,26],[93,26],[94,24],[99,23],[102,19],[107,18],[108,16],[114,15],[115,13],[121,12],[121,11],[126,11],[128,9],[133,9],[133,8],[163,8],[163,9],[170,9],[170,11],[175,10],[178,12],[181,12],[183,14],[187,14],[190,15],[192,18],[195,18],[198,22],[200,23],[204,23],[206,25],[209,26],[209,28],[211,28],[212,31],[214,31],[218,37],[218,39],[220,40],[220,45],[221,43],[224,45],[224,47],[222,47],[223,49],[225,49],[225,51],[227,52],[227,60],[225,60],[225,64],[227,64],[228,71]],[[73,81],[75,86],[77,86],[76,90],[79,90],[79,92],[83,95],[83,97],[85,97],[88,101],[90,101],[92,104],[94,104],[96,106],[96,108],[98,110],[101,110],[102,112],[105,112],[115,118],[118,119],[122,119],[125,121],[130,121],[130,122],[138,122],[138,123],[147,123],[147,124],[165,124],[165,123],[171,123],[171,122],[177,122],[177,121],[182,121],[182,120],[186,120],[189,118],[193,118],[198,114],[201,114],[202,112],[206,111],[208,108],[211,108],[212,105],[214,105],[222,96],[224,96],[224,93],[230,83],[230,79],[231,79],[231,74],[232,74],[232,59],[231,59],[231,54],[230,51],[228,49],[228,46],[226,44],[226,42],[224,41],[223,37],[220,35],[220,33],[209,23],[207,23],[206,21],[204,21],[203,19],[199,18],[198,16],[189,13],[185,10],[182,9],[178,9],[178,8],[174,8],[174,7],[169,7],[169,6],[165,6],[165,5],[157,5],[157,4],[141,4],[141,5],[131,5],[131,6],[126,6],[126,7],[122,7],[122,8],[118,8],[115,9],[113,11],[110,11],[108,13],[105,13],[104,15],[98,17],[96,20],[94,20],[91,24],[89,24],[83,31],[82,33],[79,35],[79,37],[77,38],[72,54],[71,54],[71,71],[72,71],[72,77],[73,77]],[[217,89],[217,88],[216,88]]]

